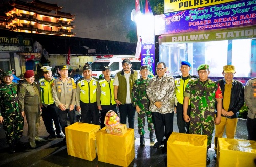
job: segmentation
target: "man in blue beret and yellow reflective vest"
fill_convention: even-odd
[[[187,83],[194,78],[197,78],[195,76],[191,76],[189,74],[189,71],[191,70],[191,64],[187,61],[181,61],[180,62],[180,71],[182,73],[181,76],[176,76],[175,78],[175,84],[176,84],[176,106],[175,106],[175,112],[177,117],[177,125],[180,133],[189,133],[189,122],[185,122],[183,120],[183,100],[184,100],[184,92],[185,88],[187,86]],[[187,115],[190,115],[190,101],[187,109]]]

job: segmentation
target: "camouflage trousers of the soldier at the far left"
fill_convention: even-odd
[[[7,144],[13,145],[17,142],[23,133],[24,120],[21,115],[11,113],[8,116],[3,116],[3,129],[5,130]]]

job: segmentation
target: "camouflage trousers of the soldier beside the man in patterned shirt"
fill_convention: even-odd
[[[152,122],[152,114],[151,114],[151,111],[143,111],[141,110],[140,113],[138,113],[138,129],[139,129],[139,134],[140,135],[144,135],[146,132],[145,132],[145,129],[144,129],[144,126],[145,126],[145,118],[147,117],[147,127],[148,127],[148,130],[150,132],[154,132],[154,124]]]

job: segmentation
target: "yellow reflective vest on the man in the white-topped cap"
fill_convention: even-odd
[[[53,78],[50,81],[47,81],[45,78],[39,79],[40,84],[40,91],[41,91],[41,102],[43,104],[53,104],[53,97],[52,97],[52,83],[55,79]]]

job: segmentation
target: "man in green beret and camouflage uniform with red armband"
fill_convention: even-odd
[[[190,121],[189,133],[207,135],[207,153],[211,147],[212,133],[214,124],[221,122],[222,93],[219,84],[210,80],[209,65],[202,64],[197,68],[199,78],[191,80],[184,92],[183,118],[186,122]],[[191,103],[190,117],[187,115],[187,109]],[[214,103],[217,101],[217,116],[215,117]],[[207,154],[207,164],[210,158]]]

